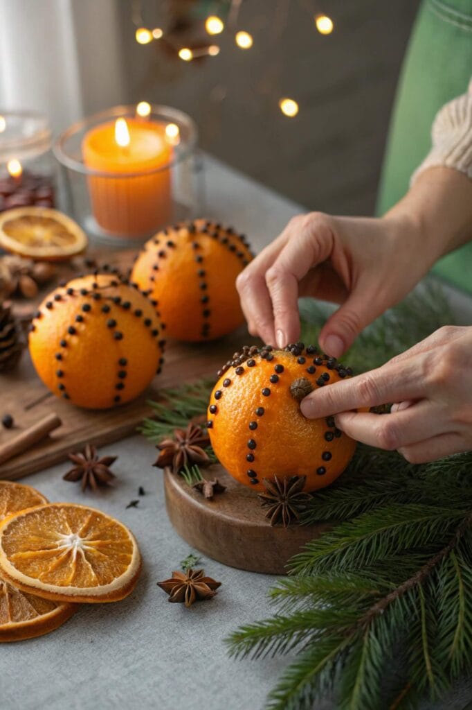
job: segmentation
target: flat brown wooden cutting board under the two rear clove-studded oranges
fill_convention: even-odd
[[[135,251],[108,251],[106,254],[96,252],[87,256],[96,258],[97,263],[106,261],[125,271],[132,263],[134,254]],[[79,269],[80,266],[64,266],[56,282],[61,278],[72,278],[79,273]],[[14,312],[23,318],[32,315],[37,304],[55,285],[54,281],[48,284],[34,301],[13,302]],[[79,450],[86,443],[101,446],[133,434],[137,425],[152,415],[147,400],[157,400],[159,390],[202,376],[214,377],[216,381],[216,372],[220,366],[235,350],[250,340],[244,328],[218,342],[198,345],[168,342],[162,374],[154,378],[145,393],[118,408],[98,411],[77,408],[50,394],[36,375],[26,351],[20,366],[13,373],[0,375],[0,419],[9,413],[15,421],[11,430],[0,426],[0,445],[50,413],[57,413],[62,426],[40,444],[0,464],[0,479],[19,479],[57,464],[67,459],[69,452]]]

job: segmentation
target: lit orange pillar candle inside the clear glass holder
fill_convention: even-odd
[[[172,159],[163,124],[140,119],[101,124],[86,133],[82,153],[87,168],[111,174],[89,178],[92,210],[102,229],[139,236],[172,221],[170,170],[159,170]]]

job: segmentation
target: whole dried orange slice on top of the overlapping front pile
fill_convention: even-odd
[[[0,573],[53,601],[118,601],[133,591],[141,555],[133,534],[94,508],[49,503],[0,524]]]

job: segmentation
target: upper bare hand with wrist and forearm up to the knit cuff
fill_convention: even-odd
[[[437,259],[472,238],[472,180],[429,168],[381,219],[294,217],[237,278],[249,332],[279,347],[300,334],[298,296],[341,304],[320,345],[339,357]]]

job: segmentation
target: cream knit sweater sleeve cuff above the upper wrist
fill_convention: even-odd
[[[410,184],[427,168],[455,168],[472,180],[472,80],[468,92],[444,104],[432,125],[432,149]]]

